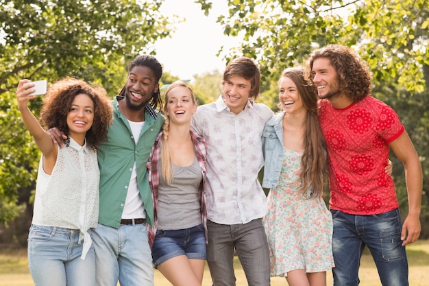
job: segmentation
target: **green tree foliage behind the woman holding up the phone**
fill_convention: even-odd
[[[58,80],[66,75],[121,89],[126,65],[154,53],[173,22],[162,1],[0,0],[0,223],[16,217],[35,187],[39,152],[16,110],[21,78]],[[41,99],[32,101],[39,110]],[[38,115],[38,112],[35,112]]]

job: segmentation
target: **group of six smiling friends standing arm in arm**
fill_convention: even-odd
[[[250,286],[270,276],[326,285],[330,270],[334,285],[358,285],[365,246],[382,285],[408,285],[421,165],[350,47],[316,49],[305,67],[285,69],[276,114],[256,102],[260,71],[244,56],[202,106],[183,82],[162,100],[161,76],[156,58],[137,56],[112,102],[100,86],[58,80],[39,119],[28,108],[34,84],[19,82],[18,108],[42,153],[28,237],[35,285],[154,285],[156,267],[172,285],[201,286],[207,261],[212,285],[232,286],[234,253]],[[404,222],[389,150],[405,169]]]

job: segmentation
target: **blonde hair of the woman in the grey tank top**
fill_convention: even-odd
[[[163,108],[165,121],[164,121],[164,125],[162,125],[162,137],[161,137],[162,145],[161,145],[160,155],[161,155],[161,165],[162,165],[161,174],[162,174],[162,177],[164,177],[164,179],[167,180],[167,183],[171,183],[173,181],[173,161],[171,160],[171,150],[169,148],[169,145],[167,144],[167,139],[169,138],[169,132],[170,132],[170,117],[167,112],[167,106],[169,105],[170,91],[173,90],[173,88],[176,88],[179,86],[188,88],[188,90],[191,92],[192,102],[193,104],[196,104],[194,92],[184,82],[181,82],[181,81],[173,82],[172,84],[169,85],[169,87],[167,88],[167,91],[165,91],[164,108]]]

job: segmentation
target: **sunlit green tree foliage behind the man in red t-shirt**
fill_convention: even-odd
[[[210,1],[196,2],[210,12]],[[354,48],[369,63],[373,96],[397,111],[419,154],[425,178],[421,237],[428,238],[429,1],[228,0],[228,6],[229,14],[218,22],[226,35],[243,41],[225,60],[254,58],[265,86],[278,80],[285,67],[304,64],[312,49],[330,43]],[[394,156],[391,159],[398,200],[406,214],[404,169]]]

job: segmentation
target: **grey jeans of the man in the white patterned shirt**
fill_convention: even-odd
[[[207,222],[207,263],[214,286],[234,286],[234,248],[249,286],[269,286],[269,249],[261,219],[247,224]]]

